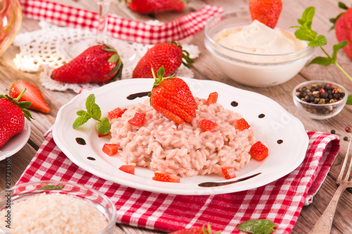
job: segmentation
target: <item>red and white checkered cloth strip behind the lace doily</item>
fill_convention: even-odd
[[[35,20],[84,30],[94,30],[98,25],[98,13],[94,11],[45,0],[20,0],[20,4],[23,15]],[[96,11],[97,9],[98,6]],[[177,41],[199,32],[210,18],[222,12],[223,8],[206,4],[200,11],[188,13],[163,25],[149,25],[108,15],[108,34],[118,39],[142,44]]]

